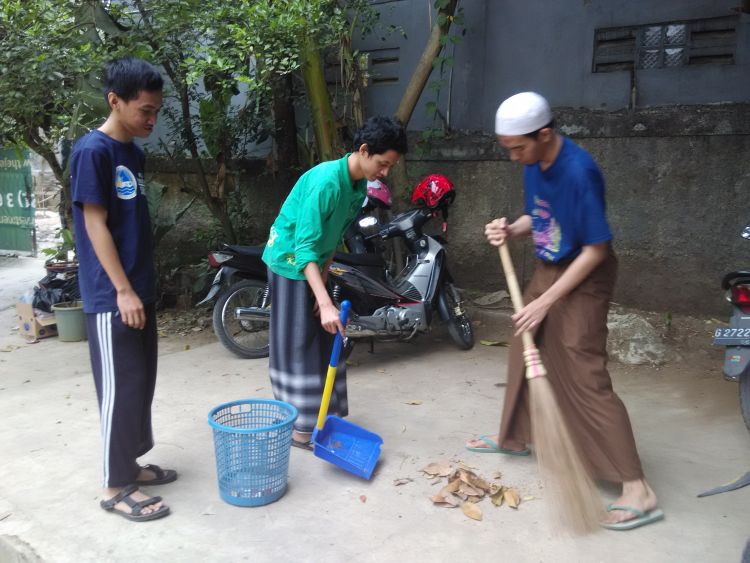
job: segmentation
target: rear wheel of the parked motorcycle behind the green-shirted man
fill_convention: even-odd
[[[269,322],[239,320],[236,307],[260,307],[266,284],[242,280],[229,287],[214,305],[214,332],[221,343],[240,358],[268,356]],[[270,307],[270,302],[267,303]]]

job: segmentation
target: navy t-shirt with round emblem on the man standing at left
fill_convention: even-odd
[[[83,204],[107,210],[107,227],[125,274],[144,304],[156,300],[153,235],[144,193],[143,151],[94,130],[73,148],[70,180],[78,256],[78,281],[86,313],[117,311],[117,292],[94,253]]]

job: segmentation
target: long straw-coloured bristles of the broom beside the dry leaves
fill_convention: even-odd
[[[546,377],[529,380],[532,442],[553,523],[576,534],[599,528],[602,505]]]

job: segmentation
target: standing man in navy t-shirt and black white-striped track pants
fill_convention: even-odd
[[[107,64],[103,84],[109,117],[78,140],[70,165],[79,284],[103,440],[100,504],[128,520],[155,520],[169,514],[169,507],[138,487],[170,483],[177,472],[136,461],[154,445],[158,337],[145,157],[133,139],[153,131],[163,79],[147,62],[126,58]]]

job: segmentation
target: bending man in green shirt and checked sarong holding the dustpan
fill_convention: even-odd
[[[302,175],[271,227],[263,253],[273,299],[269,370],[274,396],[299,410],[295,446],[312,449],[333,337],[343,331],[326,289],[328,266],[362,207],[367,181],[386,177],[407,150],[398,121],[370,118],[354,136],[353,152]],[[348,414],[346,395],[340,365],[330,403],[339,416]]]

